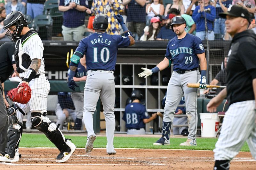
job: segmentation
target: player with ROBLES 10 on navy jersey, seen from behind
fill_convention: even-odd
[[[109,35],[108,17],[106,15],[96,15],[93,22],[95,33],[82,39],[76,48],[74,55],[70,59],[70,73],[68,76],[68,87],[75,90],[76,83],[73,79],[78,62],[83,55],[86,55],[87,79],[84,87],[84,124],[88,132],[85,146],[86,153],[93,149],[93,142],[96,134],[93,131],[92,115],[96,110],[97,101],[103,105],[106,119],[107,153],[116,154],[113,146],[114,132],[116,128],[114,105],[115,105],[115,82],[114,70],[116,66],[117,49],[128,47],[135,43],[132,33],[124,25],[122,15],[115,18],[120,23],[124,31],[124,37],[120,35]]]

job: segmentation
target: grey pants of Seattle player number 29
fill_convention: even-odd
[[[164,122],[173,122],[175,110],[180,100],[185,97],[186,114],[188,116],[188,139],[196,144],[197,131],[197,88],[187,87],[188,83],[197,83],[200,79],[198,70],[188,71],[184,74],[172,72],[172,77],[167,86],[166,101],[164,106]]]

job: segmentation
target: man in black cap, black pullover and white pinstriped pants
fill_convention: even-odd
[[[225,17],[227,32],[233,37],[228,52],[227,88],[207,104],[207,111],[216,112],[225,97],[225,113],[219,139],[215,145],[214,170],[228,170],[230,160],[246,141],[252,157],[256,159],[256,35],[247,30],[251,23],[249,12],[240,5],[230,6]]]

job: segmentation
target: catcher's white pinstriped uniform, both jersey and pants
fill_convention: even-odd
[[[29,82],[29,86],[32,90],[31,99],[27,104],[20,104],[16,103],[24,112],[25,114],[28,113],[29,109],[31,112],[47,112],[47,95],[50,91],[50,83],[45,77],[45,71],[44,71],[44,58],[43,58],[43,51],[44,46],[43,42],[38,36],[37,33],[34,33],[30,35],[27,39],[20,42],[17,41],[19,44],[19,54],[26,53],[30,56],[30,59],[41,59],[41,66],[39,67],[36,74],[40,74],[39,78],[34,78]],[[19,55],[20,57],[21,55]],[[20,61],[21,58],[19,59]],[[20,65],[20,68],[22,66]],[[28,67],[29,69],[30,67]],[[27,70],[28,70],[27,69]],[[27,70],[23,73],[20,73],[20,77],[24,77],[27,73]],[[18,121],[22,122],[23,115],[17,111],[16,116],[18,118]],[[47,117],[45,117],[47,118]],[[50,120],[47,118],[45,122],[50,122]],[[19,125],[17,125],[19,126]]]

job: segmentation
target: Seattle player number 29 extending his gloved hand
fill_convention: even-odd
[[[187,83],[197,83],[199,88],[206,87],[206,59],[202,41],[185,32],[187,24],[183,17],[172,18],[172,30],[177,34],[167,45],[166,54],[163,61],[156,67],[144,70],[139,77],[148,77],[158,71],[164,70],[173,63],[172,77],[167,86],[166,101],[164,107],[163,135],[154,145],[170,144],[170,127],[174,118],[175,110],[180,103],[180,99],[185,96],[186,114],[188,116],[188,140],[181,143],[181,146],[196,145],[197,130],[197,88],[188,88]],[[201,78],[198,70],[200,62]]]

